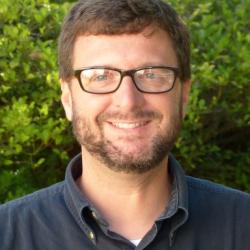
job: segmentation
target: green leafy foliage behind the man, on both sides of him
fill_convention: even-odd
[[[250,0],[172,0],[191,31],[193,88],[174,154],[250,191]],[[64,178],[79,151],[60,104],[57,37],[72,3],[0,0],[0,202]]]

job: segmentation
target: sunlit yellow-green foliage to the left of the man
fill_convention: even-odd
[[[1,201],[61,180],[73,150],[56,53],[68,9],[47,0],[1,1]]]

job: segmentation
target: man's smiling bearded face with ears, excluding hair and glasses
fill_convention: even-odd
[[[178,63],[169,36],[156,30],[150,36],[79,36],[73,68],[92,66],[129,70],[144,66],[178,67]],[[139,173],[158,166],[173,147],[188,86],[177,78],[170,92],[141,93],[131,77],[125,76],[116,92],[90,94],[73,78],[70,83],[62,81],[62,102],[83,155],[115,171]]]

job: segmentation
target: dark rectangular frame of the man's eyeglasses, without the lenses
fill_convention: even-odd
[[[165,91],[158,91],[158,92],[151,92],[151,91],[144,91],[144,90],[141,90],[137,84],[136,84],[136,81],[134,79],[134,75],[137,71],[140,71],[140,70],[144,70],[144,69],[154,69],[154,68],[157,68],[157,69],[169,69],[171,71],[174,72],[174,80],[173,80],[173,84],[171,86],[171,88],[169,88],[168,90],[165,90]],[[81,80],[81,72],[84,71],[84,70],[89,70],[89,69],[107,69],[107,70],[114,70],[116,72],[119,72],[120,73],[120,76],[121,76],[121,79],[120,79],[120,82],[119,84],[117,85],[117,87],[112,90],[112,91],[108,91],[108,92],[93,92],[93,91],[89,91],[89,90],[86,90],[82,84],[82,80]],[[122,80],[123,80],[123,77],[124,76],[130,76],[136,89],[142,93],[148,93],[148,94],[161,94],[161,93],[166,93],[166,92],[169,92],[173,89],[174,87],[174,84],[176,82],[176,79],[178,78],[179,76],[179,69],[176,68],[176,67],[169,67],[169,66],[148,66],[148,67],[141,67],[141,68],[136,68],[136,69],[130,69],[130,70],[121,70],[121,69],[118,69],[118,68],[112,68],[112,67],[104,67],[104,66],[93,66],[93,67],[84,67],[84,68],[81,68],[81,69],[77,69],[77,70],[74,70],[74,76],[77,78],[79,84],[80,84],[80,87],[81,89],[84,91],[84,92],[87,92],[87,93],[90,93],[90,94],[110,94],[110,93],[114,93],[115,91],[117,91],[122,83]]]

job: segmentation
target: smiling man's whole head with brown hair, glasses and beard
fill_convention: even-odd
[[[59,54],[62,103],[84,157],[135,173],[166,159],[190,78],[188,34],[168,5],[80,1]]]

